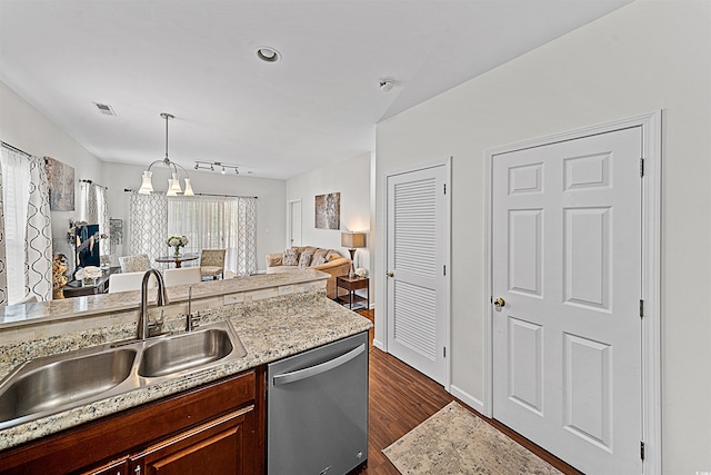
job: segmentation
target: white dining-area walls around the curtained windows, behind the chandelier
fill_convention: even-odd
[[[49,156],[74,167],[77,204],[80,179],[92,180],[108,187],[109,215],[112,218],[123,219],[123,229],[127,232],[129,200],[123,189],[140,187],[141,171],[144,167],[100,161],[3,82],[0,82],[0,140],[28,154]],[[158,185],[158,179],[162,177],[159,167],[160,165],[154,167],[153,174],[156,189],[161,189]],[[189,172],[196,192],[259,197],[257,200],[257,266],[258,269],[263,270],[264,255],[283,247],[286,181],[192,169],[189,169]],[[164,178],[168,179],[168,168],[166,168]],[[67,230],[69,219],[79,218],[79,208],[77,207],[76,211],[52,211],[51,215],[53,251],[71,256]],[[123,249],[118,249],[118,253],[122,250],[128,253],[126,236],[124,243]]]

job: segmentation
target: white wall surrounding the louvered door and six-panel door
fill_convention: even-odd
[[[663,473],[693,474],[711,471],[711,2],[638,0],[379,123],[377,227],[385,175],[453,156],[452,385],[483,400],[484,150],[658,109]]]

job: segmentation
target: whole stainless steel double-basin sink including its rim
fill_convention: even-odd
[[[24,363],[0,383],[0,429],[247,355],[229,321]]]

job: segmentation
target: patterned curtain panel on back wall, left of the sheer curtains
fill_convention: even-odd
[[[129,254],[146,254],[153,259],[167,253],[168,198],[162,194],[139,195],[131,192],[129,206]]]

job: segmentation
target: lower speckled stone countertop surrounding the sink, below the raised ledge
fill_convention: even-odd
[[[313,278],[313,276],[311,277]],[[280,283],[283,284],[283,281]],[[226,376],[236,375],[365,331],[372,327],[369,319],[327,298],[323,288],[202,309],[201,316],[203,324],[228,319],[247,349],[247,356],[230,363],[218,363],[207,369],[179,376],[168,382],[0,431],[0,451]],[[178,321],[184,321],[183,318],[184,316],[180,316]],[[134,325],[122,324],[116,328],[89,329],[50,339],[61,340],[61,345],[53,347],[67,350],[103,344],[107,340],[124,339],[127,335],[130,337],[134,331]],[[0,348],[2,352],[0,354],[0,377],[4,376],[18,360],[27,359],[28,352],[33,354],[33,357],[40,355],[37,347],[47,348],[52,345],[26,342]]]

